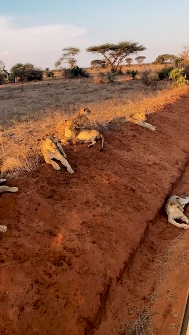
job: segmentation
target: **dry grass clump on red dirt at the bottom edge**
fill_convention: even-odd
[[[124,322],[122,335],[145,335],[148,333],[152,314],[149,312],[139,313],[139,310],[136,312],[137,319]]]

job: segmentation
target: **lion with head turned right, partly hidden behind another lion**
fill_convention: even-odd
[[[88,115],[90,115],[91,113],[92,112],[87,107],[81,107],[77,115],[73,117],[71,120],[76,121],[76,125],[78,127],[89,125],[90,121],[89,121]],[[61,133],[61,135],[64,135],[65,127],[66,127],[66,123],[65,123],[65,120],[63,119],[58,123],[56,127],[56,132]]]

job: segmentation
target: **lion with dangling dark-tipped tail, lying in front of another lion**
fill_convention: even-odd
[[[96,140],[101,138],[102,139],[102,147],[100,151],[104,148],[104,136],[100,134],[98,130],[95,129],[82,129],[76,127],[76,120],[65,120],[66,128],[65,128],[65,136],[66,139],[61,139],[62,143],[66,143],[69,140],[77,139],[80,141],[85,141],[87,143],[90,143],[88,147],[92,147],[96,144]]]

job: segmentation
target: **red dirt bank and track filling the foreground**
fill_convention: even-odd
[[[7,183],[19,191],[0,197],[1,334],[119,335],[132,306],[158,313],[154,334],[177,334],[189,231],[159,210],[188,165],[188,112],[185,96],[149,117],[156,132],[124,125],[105,134],[103,152],[67,146],[73,176],[42,165]]]

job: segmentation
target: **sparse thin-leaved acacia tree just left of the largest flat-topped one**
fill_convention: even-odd
[[[63,63],[68,63],[70,67],[76,66],[77,59],[75,58],[81,50],[76,47],[67,47],[62,49],[62,56],[54,63],[55,67],[59,67]]]

